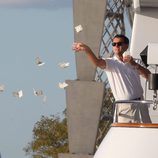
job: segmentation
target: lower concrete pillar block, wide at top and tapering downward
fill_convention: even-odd
[[[104,84],[66,81],[70,153],[93,154],[102,107]]]

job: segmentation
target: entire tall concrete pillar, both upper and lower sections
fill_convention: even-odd
[[[104,26],[106,0],[73,0],[74,41],[90,46],[96,56]],[[81,25],[79,33],[75,27]],[[94,154],[104,84],[94,82],[96,67],[85,53],[75,53],[77,80],[66,81],[69,154],[59,158],[92,158]]]

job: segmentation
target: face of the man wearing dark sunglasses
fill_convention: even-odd
[[[128,48],[128,44],[124,43],[123,38],[114,38],[113,39],[113,52],[116,55],[123,54]]]

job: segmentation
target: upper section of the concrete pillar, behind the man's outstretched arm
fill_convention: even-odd
[[[74,27],[82,25],[79,33],[74,31],[74,41],[90,46],[96,56],[99,55],[106,0],[73,0]],[[86,58],[84,53],[76,53],[77,79],[94,80],[96,67]]]

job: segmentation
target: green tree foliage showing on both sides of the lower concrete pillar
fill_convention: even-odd
[[[105,137],[113,119],[113,96],[108,83],[105,82],[103,108],[96,138],[96,148]],[[64,114],[66,113],[66,110]],[[33,128],[33,140],[24,148],[26,154],[33,158],[58,157],[58,153],[68,152],[67,119],[62,120],[56,116],[42,116]]]

